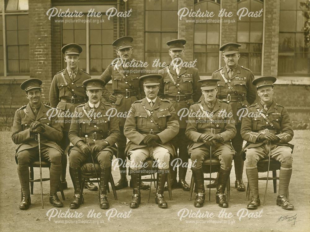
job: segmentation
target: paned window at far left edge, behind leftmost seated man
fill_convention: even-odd
[[[29,75],[29,17],[28,0],[5,1],[2,22],[2,1],[0,1],[0,75]],[[5,30],[2,30],[3,25]],[[3,41],[3,33],[5,41]],[[4,59],[6,65],[4,64]]]

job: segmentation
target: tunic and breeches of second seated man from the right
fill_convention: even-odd
[[[216,142],[216,145],[212,147],[212,155],[220,160],[223,169],[230,169],[235,151],[229,141],[236,135],[236,128],[230,105],[216,99],[213,110],[210,110],[204,102],[204,99],[202,99],[190,106],[189,110],[188,124],[185,133],[191,140],[188,153],[191,155],[192,162],[197,162],[193,168],[201,168],[202,162],[208,156],[210,157],[210,146],[206,146],[204,142],[201,142],[200,136],[202,134],[215,133],[220,134],[224,141]],[[210,119],[206,117],[206,112],[214,121],[210,121]]]

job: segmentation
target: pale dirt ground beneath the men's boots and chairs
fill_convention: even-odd
[[[215,203],[215,189],[211,190],[211,202],[206,189],[203,208],[195,208],[188,201],[188,192],[173,190],[173,200],[167,200],[168,208],[160,209],[154,202],[154,188],[148,203],[148,190],[142,190],[141,205],[131,209],[131,188],[117,191],[118,200],[108,194],[110,210],[99,208],[98,192],[84,191],[85,203],[77,210],[69,208],[73,185],[67,171],[69,188],[64,190],[66,200],[63,208],[53,208],[48,201],[49,182],[43,182],[44,209],[41,208],[40,183],[34,184],[34,195],[28,210],[20,210],[20,184],[14,159],[15,144],[11,132],[0,132],[0,230],[1,231],[310,231],[310,131],[296,130],[291,143],[295,144],[293,175],[290,182],[290,202],[294,210],[287,211],[276,205],[277,194],[273,193],[272,182],[268,183],[268,197],[265,206],[247,211],[246,193],[234,188],[234,170],[231,174],[231,200],[229,207],[220,208]],[[67,167],[69,169],[69,165]],[[186,180],[190,183],[191,171]],[[260,173],[259,176],[265,176]],[[271,175],[271,173],[270,173]],[[279,175],[279,173],[278,173]],[[43,169],[43,177],[48,171]],[[35,169],[35,178],[39,169]],[[113,171],[114,181],[119,178],[118,168]],[[130,177],[129,177],[130,178]],[[245,184],[246,174],[243,173]],[[259,192],[263,200],[265,181],[259,181]],[[60,196],[60,193],[58,193]],[[165,198],[169,199],[165,192]],[[74,214],[75,213],[75,214]],[[93,214],[92,214],[93,213]],[[95,214],[94,214],[95,213]],[[92,215],[91,215],[92,214]],[[100,215],[101,214],[101,215]],[[75,216],[70,218],[69,216]],[[204,228],[205,227],[205,228]]]

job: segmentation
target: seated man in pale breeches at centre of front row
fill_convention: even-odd
[[[158,74],[144,75],[143,81],[146,97],[131,105],[130,115],[126,118],[124,135],[130,140],[126,146],[126,154],[131,163],[131,179],[133,195],[131,208],[139,207],[141,175],[139,170],[144,160],[152,157],[157,160],[159,172],[155,203],[159,208],[167,208],[164,199],[164,185],[168,175],[170,155],[175,149],[169,142],[179,132],[179,122],[175,109],[168,100],[157,97],[159,90]]]

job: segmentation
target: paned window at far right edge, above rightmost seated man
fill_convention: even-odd
[[[279,76],[309,76],[309,50],[304,44],[305,18],[300,0],[281,0],[279,31]]]

